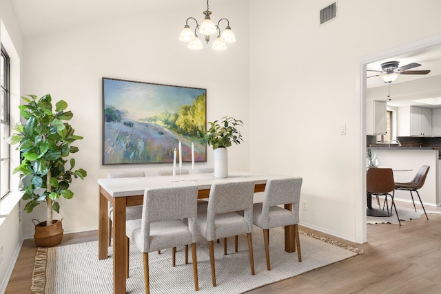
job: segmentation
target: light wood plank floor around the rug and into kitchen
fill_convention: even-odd
[[[413,208],[412,204],[402,202],[397,207]],[[441,207],[426,209],[441,211]],[[401,227],[369,224],[365,244],[305,227],[300,229],[357,247],[365,254],[249,293],[441,293],[441,214],[429,214],[429,220],[423,215],[402,222]],[[96,231],[65,234],[62,245],[92,240],[97,240]],[[6,294],[29,293],[36,250],[33,240],[23,242]]]

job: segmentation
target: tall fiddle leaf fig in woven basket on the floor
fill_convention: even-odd
[[[46,220],[35,226],[34,240],[37,246],[55,246],[63,239],[61,220],[53,220],[52,213],[59,213],[59,198],[71,199],[69,189],[73,178],[85,178],[84,169],[75,169],[75,160],[68,156],[79,151],[72,145],[82,136],[76,136],[67,123],[74,114],[66,111],[68,103],[61,100],[52,112],[50,94],[37,98],[35,95],[21,97],[27,104],[19,105],[25,125],[16,125],[10,144],[19,144],[21,165],[14,174],[21,174],[21,187],[25,189],[25,211],[31,213],[37,205],[46,204]],[[69,165],[68,165],[69,162]]]

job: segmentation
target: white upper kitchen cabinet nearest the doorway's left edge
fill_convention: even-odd
[[[387,129],[386,101],[367,101],[366,134],[385,135]]]

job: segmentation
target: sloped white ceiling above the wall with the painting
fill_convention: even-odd
[[[216,6],[223,0],[210,1]],[[164,0],[12,0],[23,36],[33,36],[55,30],[68,30],[77,25],[140,15],[149,10],[164,10]],[[207,9],[205,0],[167,0],[167,9]]]

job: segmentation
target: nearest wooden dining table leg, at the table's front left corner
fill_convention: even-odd
[[[127,239],[125,236],[125,197],[114,198],[113,204],[113,293],[125,293]]]

